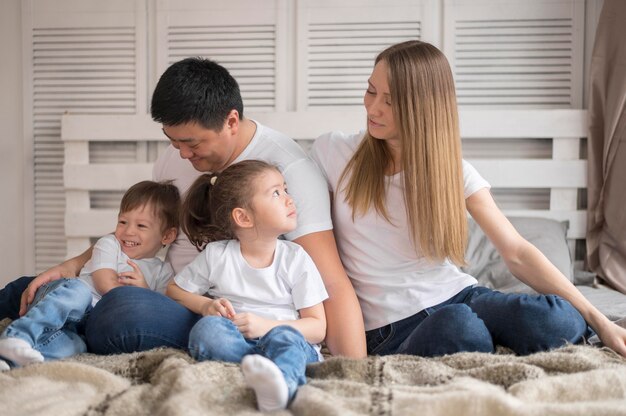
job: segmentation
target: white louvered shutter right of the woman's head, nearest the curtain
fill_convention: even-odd
[[[583,0],[446,0],[461,106],[580,108]]]

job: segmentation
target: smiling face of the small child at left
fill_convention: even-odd
[[[131,259],[155,257],[167,242],[161,232],[161,221],[150,205],[120,212],[115,238],[122,246],[122,252]]]

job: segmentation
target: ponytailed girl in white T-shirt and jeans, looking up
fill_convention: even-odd
[[[278,239],[296,228],[283,176],[266,162],[236,163],[198,178],[183,212],[183,231],[204,247],[167,289],[204,316],[189,334],[189,353],[241,362],[259,408],[285,408],[306,382],[306,364],[321,359],[315,344],[325,336],[328,295],[304,249]]]

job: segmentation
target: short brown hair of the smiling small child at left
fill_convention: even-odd
[[[172,181],[142,181],[128,188],[120,203],[120,213],[150,205],[153,214],[161,221],[161,232],[178,229],[180,194]]]

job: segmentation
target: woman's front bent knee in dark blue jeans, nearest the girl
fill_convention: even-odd
[[[493,352],[491,334],[467,305],[445,304],[425,318],[398,347],[398,354],[436,357],[456,352]]]

